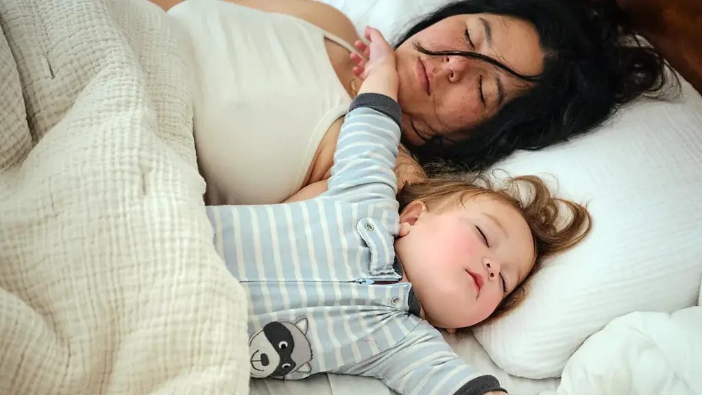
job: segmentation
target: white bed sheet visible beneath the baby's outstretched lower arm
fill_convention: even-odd
[[[460,336],[460,337],[459,337]],[[531,380],[508,375],[498,368],[475,337],[445,335],[446,341],[465,361],[483,373],[494,375],[510,395],[538,395],[543,391],[556,391],[559,379]],[[343,375],[315,375],[307,380],[252,380],[251,395],[390,395],[380,380],[368,377]]]

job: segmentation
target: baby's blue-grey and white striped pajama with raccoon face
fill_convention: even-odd
[[[400,394],[482,395],[498,385],[451,351],[418,317],[411,284],[398,282],[399,136],[383,112],[356,108],[326,193],[207,207],[216,249],[249,296],[253,377],[365,375]]]

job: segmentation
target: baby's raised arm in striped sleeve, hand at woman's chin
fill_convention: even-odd
[[[341,125],[334,165],[325,195],[346,200],[395,200],[395,160],[402,110],[397,103],[399,77],[395,53],[378,30],[366,27],[370,45],[356,46],[369,58],[352,57],[364,82]]]

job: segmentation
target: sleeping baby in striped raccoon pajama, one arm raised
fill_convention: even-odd
[[[395,57],[377,30],[366,28],[366,39],[355,44],[365,58],[352,56],[364,82],[329,190],[207,207],[216,249],[249,299],[251,376],[337,373],[377,377],[399,394],[505,394],[437,328],[513,309],[541,260],[580,242],[590,216],[532,176],[501,188],[439,177],[398,195]]]

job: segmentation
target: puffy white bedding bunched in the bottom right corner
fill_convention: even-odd
[[[701,371],[702,306],[636,312],[585,341],[568,361],[556,394],[697,395]]]

